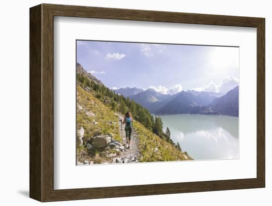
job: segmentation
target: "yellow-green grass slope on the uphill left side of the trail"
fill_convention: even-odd
[[[93,148],[89,153],[85,147],[91,142],[91,138],[97,135],[110,135],[114,140],[121,141],[119,134],[118,116],[111,110],[109,105],[105,105],[100,100],[94,97],[94,91],[85,91],[77,84],[77,130],[84,128],[83,146],[77,142],[77,160],[91,160],[94,163],[102,163],[110,160],[106,158],[104,150]],[[111,123],[110,123],[111,122]],[[78,135],[78,134],[77,134]],[[78,139],[78,138],[77,138]],[[116,153],[116,151],[109,151]]]

